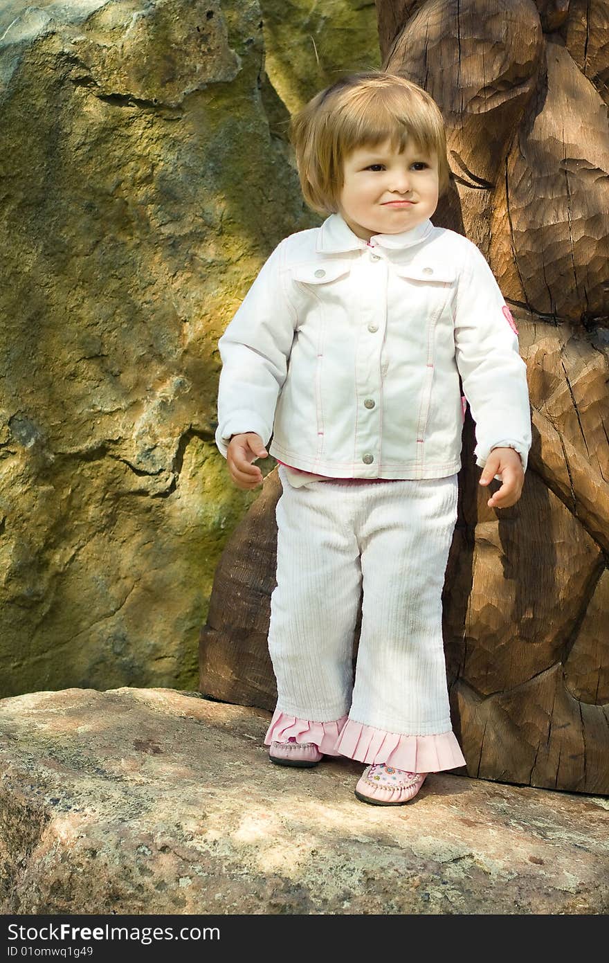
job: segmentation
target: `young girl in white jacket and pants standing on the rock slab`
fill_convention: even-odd
[[[429,220],[449,169],[425,91],[353,74],[293,119],[292,143],[306,201],[329,216],[275,248],[219,339],[216,444],[241,488],[261,483],[271,434],[279,461],[271,761],[358,760],[358,799],[400,805],[465,765],[442,636],[462,404],[480,483],[502,482],[488,505],[515,505],[525,365],[485,258]]]

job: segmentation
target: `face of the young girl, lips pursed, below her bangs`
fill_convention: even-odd
[[[438,158],[407,144],[357,147],[343,164],[339,210],[354,234],[399,234],[430,218],[438,206]]]

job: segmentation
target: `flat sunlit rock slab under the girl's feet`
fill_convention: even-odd
[[[600,914],[607,802],[362,766],[272,766],[269,714],[166,689],[0,702],[4,914]]]

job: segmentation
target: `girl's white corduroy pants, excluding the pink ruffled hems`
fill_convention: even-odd
[[[279,477],[268,631],[277,709],[403,735],[450,730],[442,590],[457,476],[297,488],[280,465]]]

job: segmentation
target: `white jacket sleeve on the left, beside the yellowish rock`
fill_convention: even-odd
[[[265,446],[288,374],[295,314],[280,271],[282,241],[270,254],[217,347],[220,371],[216,445],[226,457],[231,435],[255,431]]]

